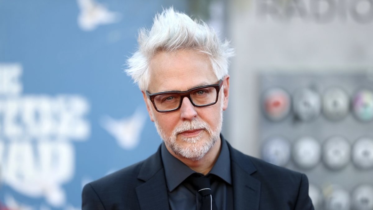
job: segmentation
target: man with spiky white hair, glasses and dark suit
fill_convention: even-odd
[[[305,175],[244,155],[220,135],[228,41],[170,8],[138,43],[127,73],[163,143],[146,160],[85,185],[82,209],[313,209]]]

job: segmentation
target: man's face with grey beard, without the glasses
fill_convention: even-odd
[[[150,78],[147,89],[150,93],[186,91],[219,83],[207,55],[195,50],[157,53],[150,62]],[[229,76],[226,76],[216,104],[195,107],[184,97],[181,107],[171,112],[157,112],[143,94],[150,119],[156,124],[167,149],[179,157],[199,160],[219,140],[228,93]]]

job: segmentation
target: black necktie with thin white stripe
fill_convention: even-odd
[[[217,210],[216,203],[212,197],[209,177],[194,173],[189,176],[189,182],[202,197],[199,210]]]

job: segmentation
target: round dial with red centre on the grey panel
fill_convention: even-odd
[[[272,88],[264,92],[262,96],[262,108],[269,120],[279,121],[290,112],[291,100],[285,90]]]

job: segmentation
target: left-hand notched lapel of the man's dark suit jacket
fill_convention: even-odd
[[[144,161],[138,179],[145,183],[136,188],[141,210],[169,210],[166,178],[160,149]]]

